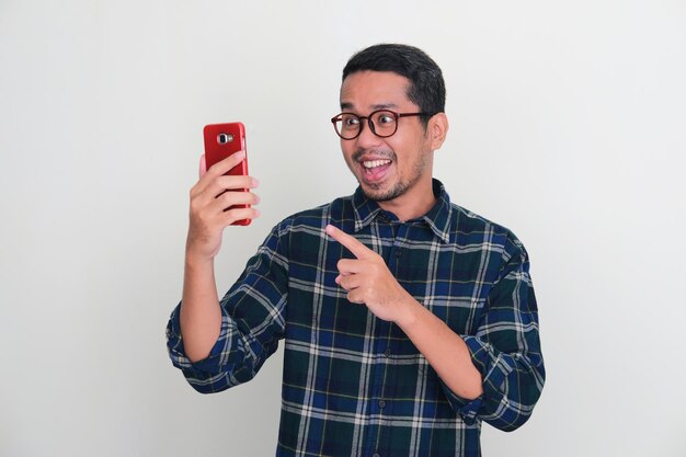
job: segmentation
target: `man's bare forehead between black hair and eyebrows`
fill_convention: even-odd
[[[341,107],[373,110],[414,106],[408,99],[410,81],[391,71],[357,71],[341,84]]]

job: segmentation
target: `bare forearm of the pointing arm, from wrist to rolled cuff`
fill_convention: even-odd
[[[471,362],[465,341],[411,297],[407,309],[407,318],[398,324],[446,386],[467,400],[482,395],[481,374]]]

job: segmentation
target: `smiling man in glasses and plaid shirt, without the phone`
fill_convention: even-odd
[[[225,210],[256,204],[252,192],[222,192],[256,181],[222,176],[236,155],[191,191],[171,358],[215,392],[250,380],[285,339],[279,456],[478,456],[481,421],[518,427],[544,386],[526,251],[432,178],[448,119],[428,56],[364,49],[340,98],[332,123],[358,188],[278,224],[221,301],[222,230],[258,216]]]

